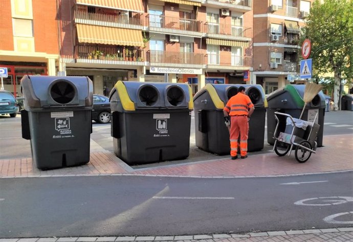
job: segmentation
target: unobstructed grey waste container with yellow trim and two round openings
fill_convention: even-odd
[[[189,156],[193,102],[188,84],[118,81],[109,100],[114,153],[127,164]]]

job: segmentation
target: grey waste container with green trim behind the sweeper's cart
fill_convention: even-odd
[[[285,85],[284,87],[270,93],[267,96],[268,109],[267,109],[267,142],[271,145],[275,143],[274,131],[276,128],[275,112],[285,113],[291,115],[293,118],[299,118],[304,106],[304,91],[305,85]],[[325,118],[325,95],[320,91],[313,100],[306,104],[305,111],[302,116],[302,120],[312,121],[315,118],[316,113],[318,114],[317,124],[320,125],[319,133],[317,136],[318,146],[322,146],[323,138],[323,124]],[[279,119],[285,119],[284,116],[278,116]],[[285,132],[286,120],[280,120],[278,132]],[[289,127],[287,127],[288,129]],[[304,133],[301,129],[295,130],[294,135],[303,138]]]

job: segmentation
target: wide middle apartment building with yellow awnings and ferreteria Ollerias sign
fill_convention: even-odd
[[[252,71],[251,0],[57,2],[58,74],[89,76],[97,94],[118,80],[188,82],[195,93]]]

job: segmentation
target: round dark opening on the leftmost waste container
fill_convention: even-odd
[[[58,81],[52,85],[50,96],[60,104],[68,104],[75,97],[75,88],[68,81]]]

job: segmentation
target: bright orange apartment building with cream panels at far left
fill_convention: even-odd
[[[56,75],[59,60],[56,2],[0,1],[0,67],[8,70],[5,90],[20,95],[26,75]]]

